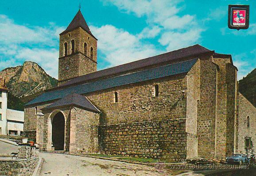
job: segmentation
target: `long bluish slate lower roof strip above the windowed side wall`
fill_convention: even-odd
[[[166,76],[182,74],[190,71],[198,59],[186,60],[174,64],[168,64],[161,67],[151,68],[148,70],[138,71],[126,75],[120,75],[109,79],[88,82],[78,86],[72,86],[64,89],[53,90],[45,92],[44,94],[36,97],[34,100],[27,103],[25,106],[52,101],[62,97],[66,97],[70,92],[76,94],[86,94],[98,90],[105,90],[117,86],[124,86],[136,82],[143,82],[152,79],[163,78]]]

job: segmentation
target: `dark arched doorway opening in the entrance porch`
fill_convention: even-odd
[[[65,118],[58,112],[52,120],[52,144],[54,150],[64,150]]]

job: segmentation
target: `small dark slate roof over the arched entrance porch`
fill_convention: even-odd
[[[66,97],[63,97],[57,101],[55,101],[53,104],[43,108],[43,109],[52,109],[52,108],[57,108],[61,106],[66,106],[66,105],[74,105],[78,106],[79,108],[86,109],[88,111],[92,112],[100,112],[99,109],[97,109],[89,100],[87,97],[76,94],[76,93],[71,93],[67,95]]]

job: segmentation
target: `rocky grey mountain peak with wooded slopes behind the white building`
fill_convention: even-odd
[[[22,66],[9,67],[0,71],[0,78],[5,79],[9,89],[10,101],[16,98],[23,103],[30,101],[44,90],[57,86],[58,81],[48,75],[42,67],[35,62],[24,62]],[[18,101],[16,99],[15,101]],[[9,101],[9,98],[8,98]],[[20,102],[10,102],[11,109],[20,109]],[[19,108],[15,105],[19,104]]]

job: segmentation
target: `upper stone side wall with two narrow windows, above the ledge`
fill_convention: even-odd
[[[159,85],[159,96],[154,86]],[[100,109],[101,124],[120,124],[150,120],[186,118],[185,74],[115,87],[86,97]],[[114,92],[118,102],[114,102]]]

